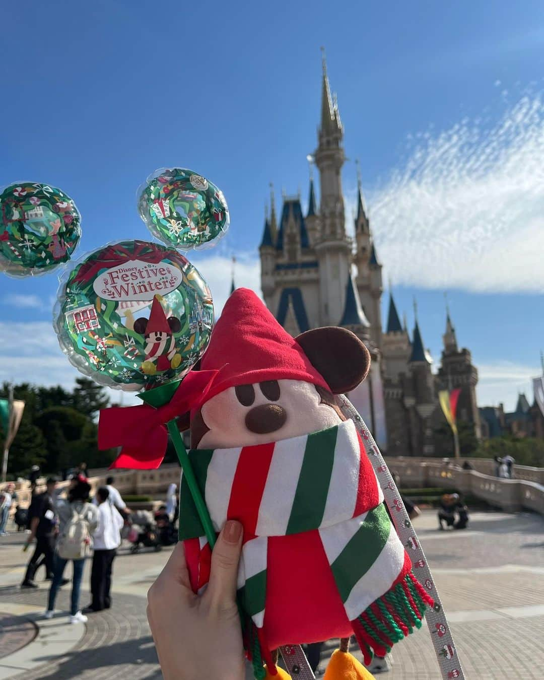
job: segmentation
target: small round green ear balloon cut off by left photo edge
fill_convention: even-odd
[[[17,182],[0,192],[0,271],[51,271],[70,259],[80,237],[81,215],[61,189]]]

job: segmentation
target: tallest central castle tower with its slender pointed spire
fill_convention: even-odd
[[[320,233],[315,250],[319,265],[319,323],[335,325],[345,303],[345,281],[350,274],[352,244],[345,233],[341,169],[344,163],[343,128],[338,105],[330,96],[323,56],[321,122],[314,154],[320,173]]]

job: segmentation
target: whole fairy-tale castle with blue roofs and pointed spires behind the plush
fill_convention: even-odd
[[[394,456],[448,455],[452,443],[449,437],[438,434],[445,426],[438,391],[461,388],[458,421],[468,424],[479,438],[477,370],[469,350],[458,349],[449,312],[437,374],[431,371],[432,360],[424,348],[417,316],[410,337],[406,325],[401,324],[392,293],[384,330],[382,265],[360,180],[354,239],[345,231],[343,135],[323,59],[318,148],[313,154],[319,171],[319,205],[312,177],[305,213],[300,196],[284,197],[278,220],[272,194],[271,213],[265,219],[259,248],[262,294],[277,320],[293,336],[318,326],[343,326],[364,341],[371,352],[371,372],[348,396],[384,452]]]

